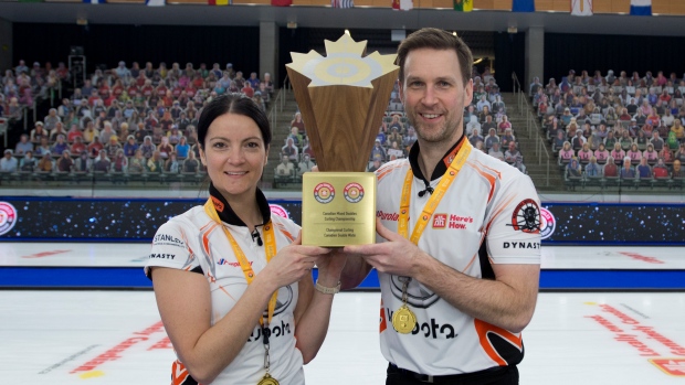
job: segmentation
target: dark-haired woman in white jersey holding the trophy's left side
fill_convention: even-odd
[[[301,246],[299,237],[293,242],[299,228],[271,215],[257,188],[271,129],[252,100],[214,99],[202,110],[198,132],[210,200],[159,228],[151,254],[176,258],[151,258],[146,266],[179,357],[173,372],[185,366],[202,384],[253,385],[268,377],[304,384],[302,364],[314,357],[326,335],[328,293],[339,285],[345,258]],[[220,260],[230,264],[217,265]],[[315,263],[316,291],[309,275]],[[272,295],[278,297],[277,312]],[[288,327],[292,333],[272,334],[265,344],[268,324]]]

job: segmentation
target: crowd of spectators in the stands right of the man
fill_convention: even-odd
[[[529,90],[567,180],[683,178],[685,74],[570,71]]]

